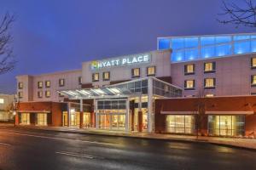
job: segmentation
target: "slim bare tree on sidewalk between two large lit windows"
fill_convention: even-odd
[[[202,124],[204,122],[205,114],[206,114],[206,95],[205,89],[199,88],[198,94],[196,95],[195,99],[195,107],[196,107],[196,114],[195,114],[195,130],[196,130],[196,137],[198,138],[199,134],[201,133]]]

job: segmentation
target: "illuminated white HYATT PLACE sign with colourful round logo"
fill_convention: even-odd
[[[92,61],[90,63],[90,69],[103,69],[110,68],[113,66],[124,66],[124,65],[136,65],[142,63],[149,63],[151,61],[151,54],[136,54],[131,56],[124,56],[113,59],[103,59],[98,61]]]

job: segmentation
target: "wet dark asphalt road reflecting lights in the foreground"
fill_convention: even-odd
[[[256,151],[0,127],[0,169],[256,169]]]

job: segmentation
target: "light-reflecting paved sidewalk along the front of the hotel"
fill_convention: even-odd
[[[0,125],[1,126],[1,125]],[[222,138],[222,137],[203,137],[200,136],[198,139],[196,136],[190,135],[176,135],[176,134],[160,134],[160,133],[124,133],[119,131],[106,131],[106,130],[96,130],[96,129],[79,129],[76,127],[26,127],[19,126],[21,128],[33,128],[42,129],[63,133],[83,133],[83,134],[98,134],[98,135],[108,135],[116,137],[129,137],[138,139],[162,139],[162,140],[176,140],[176,141],[186,141],[186,142],[201,142],[210,144],[221,144],[230,145],[239,148],[253,149],[256,150],[256,139],[241,139],[241,138]]]

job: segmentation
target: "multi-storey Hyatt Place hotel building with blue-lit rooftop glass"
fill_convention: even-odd
[[[256,34],[159,37],[157,50],[17,78],[17,125],[256,133]]]

